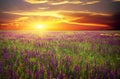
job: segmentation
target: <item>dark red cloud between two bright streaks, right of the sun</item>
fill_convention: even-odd
[[[77,23],[97,23],[109,25],[113,22],[112,15],[94,12],[61,12],[62,15],[76,18],[71,20]]]

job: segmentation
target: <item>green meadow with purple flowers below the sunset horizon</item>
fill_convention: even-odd
[[[0,79],[120,79],[120,31],[0,31]]]

